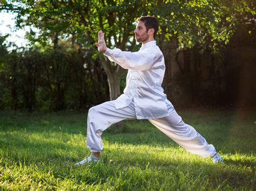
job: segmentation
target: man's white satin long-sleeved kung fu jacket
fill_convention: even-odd
[[[161,84],[164,79],[164,55],[156,41],[143,44],[138,52],[107,48],[110,61],[128,69],[124,94],[115,101],[116,109],[134,101],[137,119],[156,119],[169,116],[174,110]]]

